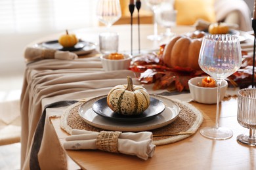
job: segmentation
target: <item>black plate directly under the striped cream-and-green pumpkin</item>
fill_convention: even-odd
[[[152,120],[152,118],[155,118],[156,116],[158,116],[158,114],[161,114],[161,112],[165,110],[165,105],[162,101],[154,97],[150,97],[150,106],[148,107],[148,109],[146,109],[139,115],[125,116],[123,114],[116,113],[112,109],[110,109],[110,107],[108,107],[106,97],[103,97],[102,99],[98,99],[97,101],[95,101],[95,103],[93,103],[92,109],[96,114],[107,118],[108,120],[138,123]]]

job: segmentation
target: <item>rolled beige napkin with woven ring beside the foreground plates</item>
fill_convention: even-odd
[[[138,133],[120,131],[85,131],[73,129],[72,135],[66,137],[66,150],[99,149],[108,152],[134,155],[142,160],[152,158],[155,144],[152,144],[152,132]]]

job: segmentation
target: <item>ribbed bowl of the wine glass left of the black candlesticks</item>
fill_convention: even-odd
[[[119,0],[98,0],[96,16],[100,22],[110,28],[111,25],[121,18]]]

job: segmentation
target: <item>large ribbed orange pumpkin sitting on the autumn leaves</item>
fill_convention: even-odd
[[[198,57],[204,35],[203,32],[194,32],[173,37],[163,50],[163,62],[171,68],[178,66],[200,70]]]

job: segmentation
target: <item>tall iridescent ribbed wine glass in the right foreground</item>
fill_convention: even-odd
[[[228,139],[233,132],[219,127],[219,97],[221,82],[235,73],[242,64],[240,41],[235,35],[206,35],[203,37],[198,63],[217,82],[217,112],[215,126],[204,127],[200,133],[209,139]]]

